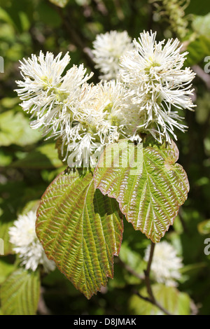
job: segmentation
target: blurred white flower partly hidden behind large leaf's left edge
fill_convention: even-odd
[[[21,264],[26,269],[35,271],[38,265],[43,265],[45,272],[55,269],[55,262],[48,260],[41,242],[36,237],[36,212],[18,216],[18,219],[9,229],[10,243],[18,254]]]

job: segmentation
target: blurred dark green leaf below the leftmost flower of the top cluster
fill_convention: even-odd
[[[62,167],[54,143],[38,146],[25,158],[13,162],[12,167],[25,169],[51,169]]]

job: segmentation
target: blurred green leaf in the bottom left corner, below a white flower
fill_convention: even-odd
[[[1,285],[1,311],[4,315],[34,315],[40,290],[39,273],[17,269]]]

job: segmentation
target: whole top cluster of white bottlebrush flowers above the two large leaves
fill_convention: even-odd
[[[144,31],[131,43],[125,31],[97,36],[92,52],[103,73],[97,85],[88,82],[93,73],[83,64],[66,71],[68,53],[24,59],[16,91],[34,118],[31,127],[62,139],[63,158],[71,153],[77,166],[94,165],[92,155],[121,138],[141,141],[143,133],[160,142],[176,139],[174,127],[186,130],[176,109],[193,109],[195,75],[182,69],[186,52],[180,53],[177,39],[165,44],[155,37]]]

